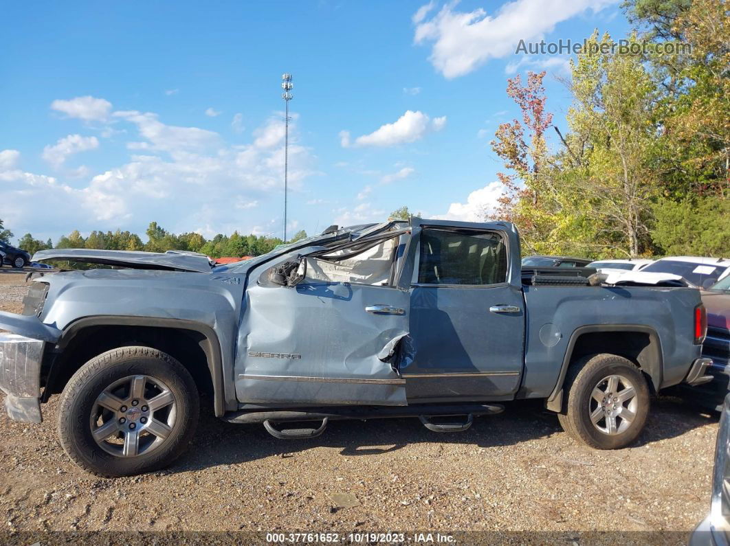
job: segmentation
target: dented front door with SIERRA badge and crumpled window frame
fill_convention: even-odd
[[[405,231],[309,254],[296,286],[252,273],[235,364],[255,405],[405,405],[410,294],[394,286]],[[291,257],[288,257],[291,260]]]

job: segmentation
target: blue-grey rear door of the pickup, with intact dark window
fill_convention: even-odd
[[[524,364],[518,235],[501,222],[422,222],[410,252],[408,400],[509,399]]]

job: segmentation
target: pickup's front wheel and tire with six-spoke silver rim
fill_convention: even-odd
[[[66,384],[58,436],[87,472],[136,475],[177,459],[195,434],[199,413],[198,389],[183,364],[157,349],[122,347],[91,359]]]

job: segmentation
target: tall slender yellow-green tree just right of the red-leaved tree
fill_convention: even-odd
[[[648,226],[658,195],[657,91],[641,58],[612,47],[608,34],[599,39],[594,33],[572,62],[568,122],[582,146],[571,152],[584,157],[574,182],[599,241],[635,257],[650,250]]]

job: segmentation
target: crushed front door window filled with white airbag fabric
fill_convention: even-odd
[[[396,258],[399,237],[382,241],[352,257],[342,250],[322,257],[307,258],[307,281],[388,285]]]

